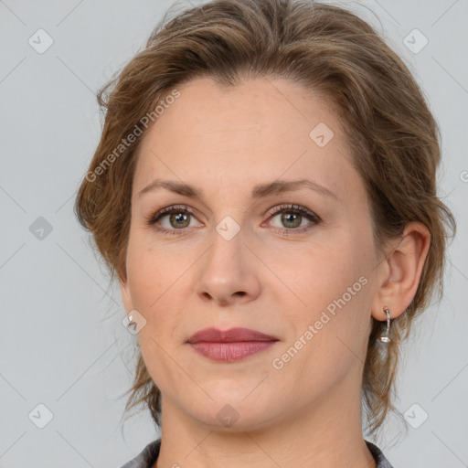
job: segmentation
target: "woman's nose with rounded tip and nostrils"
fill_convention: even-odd
[[[229,240],[213,229],[211,247],[197,263],[197,295],[203,302],[248,303],[260,294],[259,261],[246,245],[242,229]]]

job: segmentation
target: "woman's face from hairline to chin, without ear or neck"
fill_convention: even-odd
[[[336,115],[288,80],[177,89],[139,148],[122,282],[163,406],[247,429],[358,392],[377,258]],[[274,339],[188,343],[211,327]]]

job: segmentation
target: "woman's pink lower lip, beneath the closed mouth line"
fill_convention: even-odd
[[[233,362],[260,353],[276,341],[238,341],[235,343],[193,343],[191,346],[202,356],[214,361]]]

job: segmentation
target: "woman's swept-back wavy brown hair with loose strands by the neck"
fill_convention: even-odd
[[[335,110],[367,189],[376,251],[410,221],[429,229],[431,244],[410,306],[392,321],[394,341],[378,341],[385,322],[372,319],[361,394],[368,432],[393,406],[399,346],[415,317],[442,295],[452,212],[436,194],[440,131],[410,70],[367,22],[344,8],[312,0],[215,0],[155,27],[146,47],[98,91],[105,120],[90,172],[75,202],[109,270],[126,279],[125,257],[137,150],[122,146],[171,90],[209,77],[235,86],[246,79],[286,78],[324,96]],[[140,133],[147,132],[147,126]],[[151,127],[149,127],[151,128]],[[130,139],[129,139],[130,141]],[[120,148],[121,154],[115,154]],[[112,154],[114,157],[112,157]],[[100,169],[101,168],[101,169]],[[96,176],[97,175],[97,176]],[[161,392],[138,350],[125,411],[145,403],[161,425]]]

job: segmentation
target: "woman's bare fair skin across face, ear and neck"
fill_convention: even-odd
[[[374,249],[365,187],[337,116],[313,91],[283,79],[222,88],[198,78],[177,89],[180,97],[139,148],[121,282],[127,313],[136,309],[146,320],[139,344],[162,392],[154,466],[375,467],[360,413],[367,338],[372,317],[385,320],[384,305],[396,318],[410,304],[429,232],[410,223],[385,252]],[[309,137],[319,122],[335,133],[324,147]],[[140,197],[156,177],[197,186],[203,200],[165,188]],[[337,199],[303,187],[251,197],[253,186],[279,178],[313,180]],[[296,228],[281,213],[271,216],[284,204],[321,221],[303,217]],[[180,231],[170,214],[147,223],[173,205],[194,211],[181,235],[155,229]],[[216,229],[225,217],[240,228],[230,240]],[[362,276],[367,284],[274,368],[272,360]],[[239,362],[214,362],[186,344],[209,326],[246,327],[279,341]],[[217,417],[227,404],[239,415],[230,427]]]

